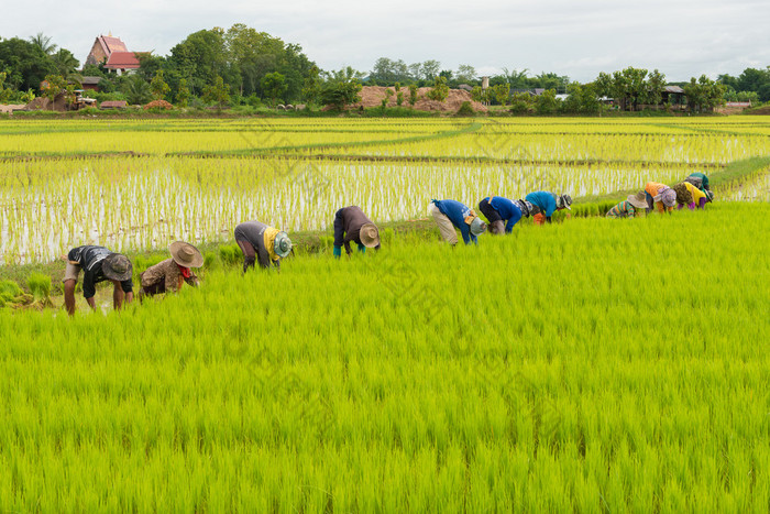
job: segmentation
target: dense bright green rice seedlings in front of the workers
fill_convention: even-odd
[[[0,512],[767,512],[770,206],[0,313]]]

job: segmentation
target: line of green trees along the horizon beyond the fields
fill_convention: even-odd
[[[56,90],[72,90],[80,86],[82,76],[97,76],[101,79],[100,92],[89,91],[89,95],[99,100],[124,99],[129,103],[164,99],[178,106],[198,107],[260,107],[278,102],[339,107],[354,102],[366,84],[399,89],[403,86],[404,91],[398,92],[404,101],[415,98],[416,87],[432,86],[440,91],[466,86],[475,100],[510,107],[517,113],[595,113],[603,97],[615,99],[624,110],[659,106],[667,86],[666,76],[657,69],[635,67],[600,73],[587,84],[571,81],[557,73],[530,75],[528,69],[503,68],[488,77],[486,89],[482,89],[482,78],[473,66],[444,69],[435,59],[406,64],[381,57],[369,73],[351,67],[326,72],[299,45],[244,24],[194,32],[168,55],[143,53],[138,57],[139,70],[119,76],[106,69],[105,63],[78,69],[73,53],[57,47],[42,33],[26,40],[0,37],[0,102],[30,101],[44,92],[40,90],[43,80],[55,85]],[[693,111],[713,109],[725,100],[766,102],[770,101],[770,66],[746,68],[737,77],[719,75],[712,80],[701,76],[676,85],[684,89],[686,107]],[[537,95],[532,95],[535,90]],[[560,101],[559,94],[569,96]]]

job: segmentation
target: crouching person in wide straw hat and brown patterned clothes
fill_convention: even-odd
[[[139,292],[140,299],[144,296],[179,291],[185,283],[194,287],[198,285],[198,277],[190,270],[204,265],[204,255],[198,249],[183,241],[174,241],[168,251],[172,254],[170,259],[147,267],[139,275],[142,286]]]

